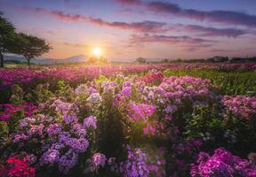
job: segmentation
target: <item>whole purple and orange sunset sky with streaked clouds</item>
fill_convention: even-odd
[[[255,0],[0,0],[17,31],[44,38],[44,58],[256,56]]]

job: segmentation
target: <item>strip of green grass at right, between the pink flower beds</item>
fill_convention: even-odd
[[[165,76],[194,76],[210,79],[214,85],[221,86],[220,93],[225,95],[256,96],[256,72],[220,69],[170,69]]]

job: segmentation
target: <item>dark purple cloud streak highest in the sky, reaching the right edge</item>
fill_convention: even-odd
[[[234,11],[201,11],[196,9],[181,8],[178,4],[167,2],[142,2],[140,0],[116,0],[120,4],[137,5],[146,8],[149,12],[170,14],[187,19],[209,21],[228,25],[241,25],[244,27],[256,27],[256,16],[244,12]]]

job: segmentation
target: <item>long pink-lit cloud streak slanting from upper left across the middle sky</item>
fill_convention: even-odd
[[[122,2],[125,4],[134,4],[136,2],[138,3],[138,0],[136,1],[122,0]],[[169,9],[168,6],[165,8]],[[196,25],[181,25],[181,24],[168,26],[164,22],[157,22],[157,21],[150,21],[150,20],[144,20],[140,22],[130,22],[130,23],[121,22],[121,21],[109,22],[103,19],[93,18],[90,16],[83,16],[80,14],[69,14],[61,11],[48,10],[41,7],[36,7],[36,8],[20,7],[20,10],[35,12],[37,14],[50,15],[55,19],[60,19],[60,20],[84,21],[100,27],[111,27],[111,28],[116,28],[121,30],[130,30],[138,33],[165,33],[168,31],[175,31],[175,32],[183,31],[183,32],[189,32],[189,33],[198,33],[200,36],[208,36],[208,37],[227,36],[227,37],[234,37],[234,38],[239,35],[245,35],[249,33],[248,31],[236,29],[236,28],[219,29],[214,27],[201,27]]]

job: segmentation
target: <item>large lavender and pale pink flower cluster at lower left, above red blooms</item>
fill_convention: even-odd
[[[20,120],[20,132],[13,136],[13,142],[20,146],[35,141],[42,142],[40,165],[59,165],[60,171],[68,173],[78,161],[80,153],[86,151],[89,142],[86,128],[96,128],[96,119],[84,119],[84,125],[78,122],[76,114],[64,114],[62,119],[47,115],[36,115]]]

